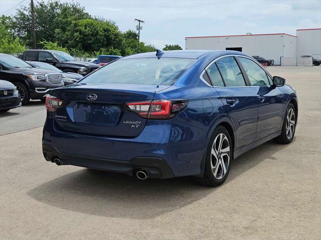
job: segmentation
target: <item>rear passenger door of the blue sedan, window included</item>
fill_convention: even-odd
[[[236,149],[255,141],[258,118],[258,99],[234,58],[219,58],[207,68],[224,107],[236,129]]]

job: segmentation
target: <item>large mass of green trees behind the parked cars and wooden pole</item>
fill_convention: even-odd
[[[21,7],[8,24],[15,37],[32,45],[31,6]],[[155,47],[138,42],[133,30],[121,32],[112,20],[93,17],[78,2],[40,0],[35,5],[38,48],[63,48],[75,56],[97,54],[130,55],[154,51]]]

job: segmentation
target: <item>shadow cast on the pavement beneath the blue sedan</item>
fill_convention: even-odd
[[[232,183],[242,173],[286,145],[267,142],[235,159],[220,187],[202,186],[191,177],[139,180],[125,174],[81,169],[28,191],[34,199],[63,209],[87,214],[148,219],[202,199]],[[63,167],[63,166],[62,166]]]

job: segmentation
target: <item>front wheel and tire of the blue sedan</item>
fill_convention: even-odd
[[[291,114],[292,111],[294,113],[293,118],[292,118],[292,114]],[[289,124],[289,120],[287,117],[290,118],[290,121],[294,120],[294,124],[293,123]],[[273,140],[277,143],[282,143],[282,144],[290,143],[294,138],[295,128],[296,128],[296,119],[297,119],[297,113],[295,111],[295,107],[292,103],[290,103],[287,106],[287,109],[285,111],[281,134],[279,136],[275,137]]]

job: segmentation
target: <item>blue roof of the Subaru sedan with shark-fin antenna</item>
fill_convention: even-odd
[[[212,55],[213,57],[219,57],[227,54],[238,54],[238,55],[246,55],[240,51],[232,51],[232,50],[170,50],[163,51],[164,54],[162,58],[172,57],[172,58],[194,58],[198,59],[206,55]],[[247,56],[247,55],[246,55]],[[131,59],[131,58],[154,58],[156,56],[156,52],[143,52],[134,55],[125,56],[122,59]]]

